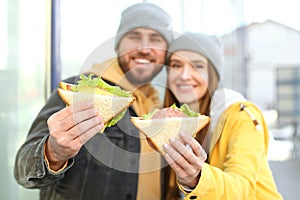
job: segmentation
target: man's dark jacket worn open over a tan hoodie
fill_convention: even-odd
[[[74,83],[75,77],[65,81]],[[66,169],[54,174],[47,169],[43,156],[49,136],[47,119],[64,107],[65,103],[54,92],[17,153],[16,181],[26,188],[39,188],[42,200],[135,200],[140,140],[138,130],[130,122],[134,110],[129,108],[117,125],[106,128],[104,134],[97,134],[69,160]],[[164,178],[161,180],[163,188]]]

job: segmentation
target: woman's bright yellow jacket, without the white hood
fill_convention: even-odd
[[[267,160],[269,135],[262,113],[250,102],[242,104],[247,112],[236,102],[220,115],[209,164],[204,164],[198,185],[185,199],[282,199]]]

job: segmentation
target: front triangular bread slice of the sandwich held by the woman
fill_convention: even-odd
[[[163,145],[169,143],[171,137],[179,138],[181,132],[195,137],[209,123],[210,117],[206,115],[162,119],[131,117],[131,121],[150,140],[155,150],[165,154]]]

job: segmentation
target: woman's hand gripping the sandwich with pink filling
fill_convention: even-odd
[[[207,155],[201,145],[192,136],[181,133],[180,140],[171,138],[164,145],[164,158],[176,173],[180,184],[195,188]]]

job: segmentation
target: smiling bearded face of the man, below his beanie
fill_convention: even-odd
[[[118,61],[132,84],[148,83],[161,71],[167,46],[166,39],[154,29],[136,28],[123,37]]]

